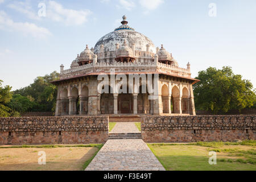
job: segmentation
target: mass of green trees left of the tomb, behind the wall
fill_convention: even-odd
[[[11,92],[11,86],[2,87],[0,80],[0,117],[19,116],[27,111],[54,111],[57,87],[50,82],[59,73],[37,77],[30,86]]]

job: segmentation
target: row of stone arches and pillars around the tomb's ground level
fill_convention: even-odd
[[[150,100],[150,94],[131,93],[127,86],[127,94],[119,91],[97,93],[97,85],[70,84],[60,87],[60,99],[57,100],[59,115],[101,115],[101,114],[191,114],[195,115],[191,84],[159,82],[159,98]],[[90,88],[90,89],[89,89]],[[96,90],[94,90],[96,89]],[[91,93],[90,93],[90,92]]]

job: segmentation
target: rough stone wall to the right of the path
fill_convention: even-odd
[[[256,115],[142,117],[145,142],[198,142],[256,139]]]

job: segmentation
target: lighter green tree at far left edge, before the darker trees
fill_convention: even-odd
[[[12,98],[11,86],[2,87],[2,80],[0,80],[0,117],[9,117],[11,109],[6,106]]]

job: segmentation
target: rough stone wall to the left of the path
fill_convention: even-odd
[[[0,144],[105,143],[108,117],[0,118]]]

